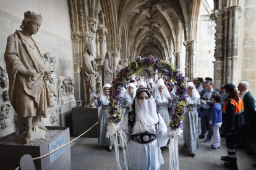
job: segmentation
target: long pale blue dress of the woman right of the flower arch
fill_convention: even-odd
[[[183,139],[189,148],[189,153],[195,153],[199,147],[198,139],[198,115],[197,108],[202,107],[199,98],[195,98],[187,104],[187,111],[183,120]]]

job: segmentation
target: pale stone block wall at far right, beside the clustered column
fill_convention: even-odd
[[[250,92],[256,98],[256,1],[241,1],[241,8],[237,84],[247,81]]]

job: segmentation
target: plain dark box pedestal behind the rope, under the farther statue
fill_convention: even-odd
[[[98,121],[99,114],[100,108],[72,108],[73,136],[80,136],[80,134],[92,127]],[[82,137],[98,138],[98,125],[94,126]]]

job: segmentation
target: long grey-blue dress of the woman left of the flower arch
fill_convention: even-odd
[[[111,137],[106,137],[106,132],[108,131],[108,103],[103,103],[100,98],[94,100],[96,107],[101,106],[99,123],[98,123],[98,144],[99,145],[109,145],[111,146]]]

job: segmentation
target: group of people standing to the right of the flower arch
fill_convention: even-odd
[[[220,148],[220,136],[226,137],[228,156],[221,156],[221,160],[226,161],[224,165],[227,168],[237,169],[236,149],[244,147],[250,117],[255,113],[254,97],[248,90],[249,83],[246,81],[238,84],[239,92],[234,84],[221,86],[222,94],[220,95],[213,89],[212,79],[205,79],[203,81],[203,78],[193,78],[187,83],[187,91],[190,96],[187,108],[194,110],[194,115],[192,113],[185,114],[183,122],[185,145],[189,147],[190,155],[194,156],[195,147],[198,147],[198,139],[206,137],[203,142],[210,142],[214,135],[215,140],[208,148],[213,151]],[[190,100],[193,99],[197,102],[194,102],[194,108],[191,108]],[[220,128],[223,129],[221,135]],[[189,135],[187,135],[187,131]],[[187,140],[186,136],[189,136],[190,139]]]

